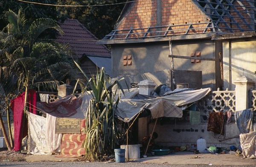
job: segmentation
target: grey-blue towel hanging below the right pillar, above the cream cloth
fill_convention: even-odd
[[[236,125],[240,133],[253,131],[253,109],[245,109],[234,113]]]

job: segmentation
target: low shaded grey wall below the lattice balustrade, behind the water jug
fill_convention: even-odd
[[[154,123],[149,124],[149,133],[152,132]],[[229,125],[225,125],[224,136],[219,134],[214,134],[213,132],[207,131],[207,123],[201,123],[200,125],[189,125],[189,124],[176,124],[176,125],[160,125],[157,123],[155,127],[155,132],[158,134],[158,138],[155,142],[163,147],[169,146],[186,146],[186,144],[196,144],[197,139],[203,137],[207,142],[207,147],[217,146],[217,147],[226,147],[229,148],[231,145],[239,146],[240,140],[238,138],[225,140],[219,142],[219,140],[224,138],[229,138],[233,136],[239,136],[239,130],[235,122],[231,122]],[[254,129],[256,125],[254,125]],[[174,129],[180,129],[180,132],[177,132]],[[193,132],[187,132],[186,130],[194,130]]]

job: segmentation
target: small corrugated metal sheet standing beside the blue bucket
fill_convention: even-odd
[[[125,159],[140,159],[140,144],[121,145],[120,148],[125,148]]]

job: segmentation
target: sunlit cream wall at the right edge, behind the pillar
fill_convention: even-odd
[[[224,89],[234,90],[236,78],[246,76],[256,82],[256,38],[223,42]]]

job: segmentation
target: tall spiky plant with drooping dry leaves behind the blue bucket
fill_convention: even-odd
[[[88,80],[85,89],[90,88],[92,99],[87,109],[86,138],[83,143],[87,160],[101,160],[102,156],[110,155],[120,144],[122,135],[115,117],[115,108],[120,99],[120,91],[124,91],[119,81],[111,83],[104,68],[96,75],[96,79],[92,77]],[[115,85],[117,87],[112,90]]]

